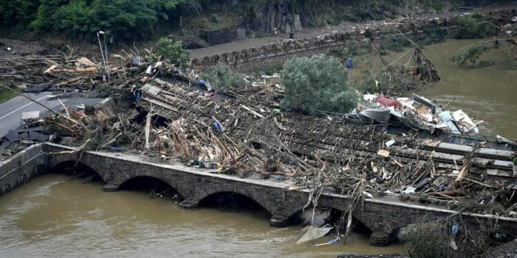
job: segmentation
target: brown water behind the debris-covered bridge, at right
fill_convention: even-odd
[[[449,40],[425,47],[424,54],[433,61],[442,80],[421,94],[442,105],[456,98],[449,107],[484,120],[481,132],[517,139],[517,71],[499,66],[465,69],[449,60],[461,47],[476,41]],[[500,51],[493,51],[482,58],[502,56]]]

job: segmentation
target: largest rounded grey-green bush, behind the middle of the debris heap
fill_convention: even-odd
[[[358,100],[356,91],[346,86],[345,66],[337,58],[323,54],[285,62],[281,83],[285,87],[282,105],[286,109],[309,114],[347,113]]]

